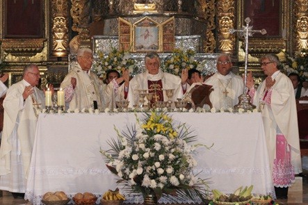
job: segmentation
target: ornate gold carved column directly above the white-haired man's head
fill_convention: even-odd
[[[70,13],[73,19],[72,30],[79,33],[79,35],[75,37],[78,38],[75,42],[80,42],[80,47],[90,47],[90,0],[71,0],[71,2],[72,8]]]

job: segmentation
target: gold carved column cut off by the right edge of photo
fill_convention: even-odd
[[[308,1],[295,0],[295,48],[308,49]]]

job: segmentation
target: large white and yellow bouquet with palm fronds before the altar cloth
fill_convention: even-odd
[[[118,183],[143,197],[155,195],[159,199],[165,194],[206,199],[204,180],[193,174],[197,165],[193,152],[199,145],[190,145],[196,136],[191,136],[185,124],[174,128],[169,115],[153,111],[145,113],[142,121],[137,118],[136,129],[130,134],[116,131],[117,139],[108,141],[111,149],[101,153],[108,169],[120,177]]]

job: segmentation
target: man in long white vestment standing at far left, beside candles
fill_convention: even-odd
[[[26,191],[38,110],[45,102],[44,93],[35,87],[39,80],[38,66],[26,65],[22,81],[10,86],[3,100],[0,190]],[[52,85],[49,88],[53,91]]]

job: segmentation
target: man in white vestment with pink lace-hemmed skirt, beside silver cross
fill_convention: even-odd
[[[286,199],[294,174],[302,172],[302,165],[293,85],[279,71],[279,65],[279,58],[274,54],[262,57],[261,68],[267,77],[254,90],[250,72],[247,87],[252,103],[261,110],[276,196]]]

